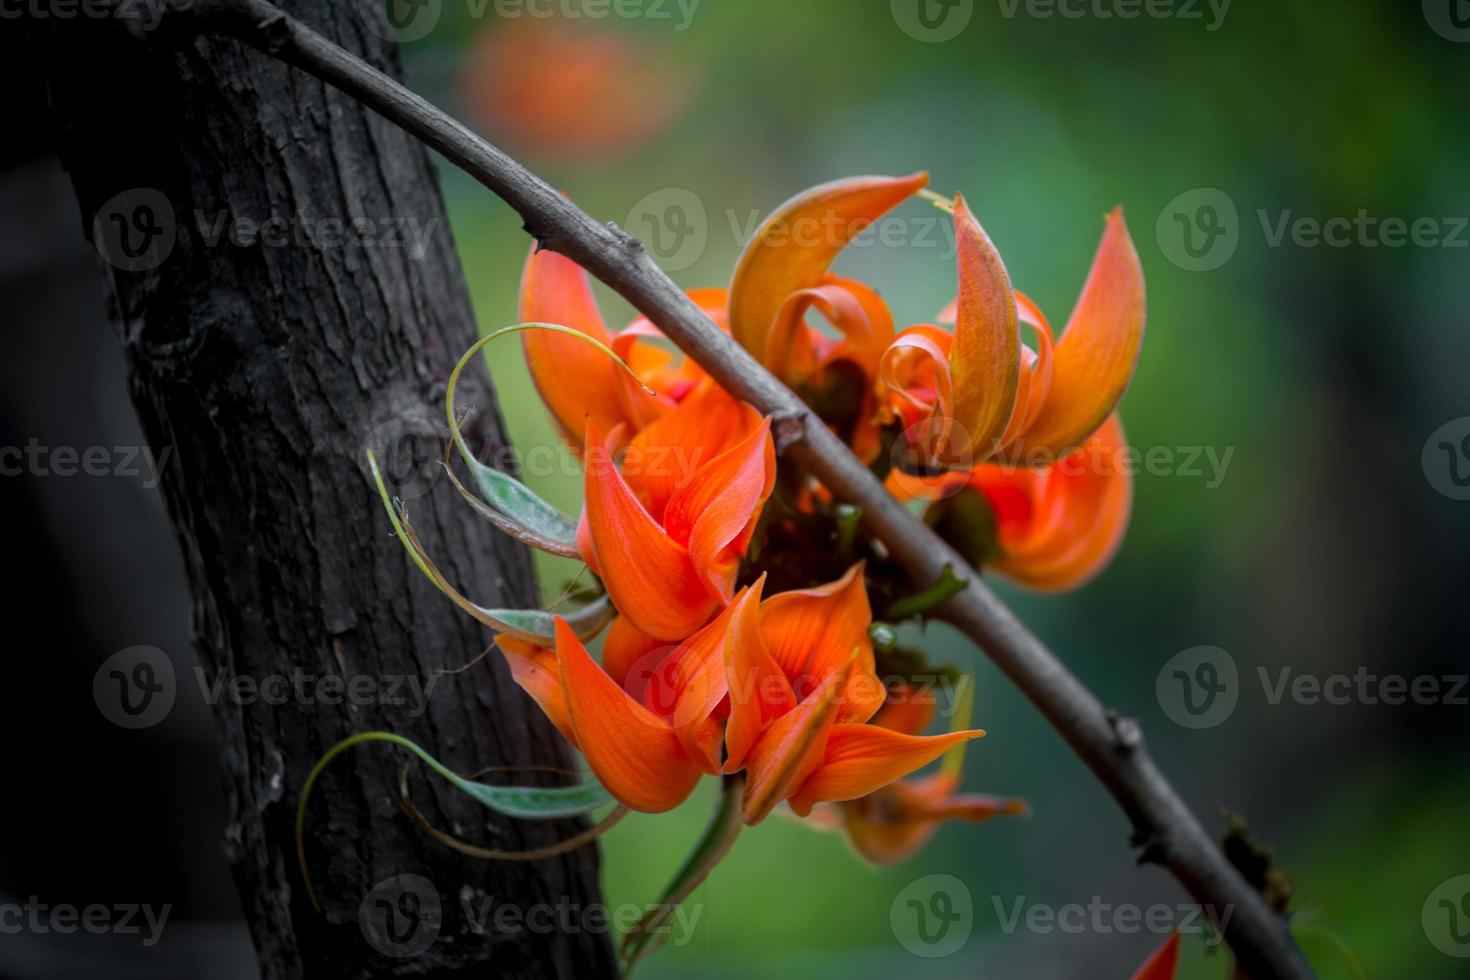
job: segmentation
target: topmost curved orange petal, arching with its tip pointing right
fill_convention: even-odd
[[[838,253],[878,217],[929,182],[929,175],[906,178],[858,176],[814,187],[791,198],[760,226],[735,266],[731,284],[731,332],[766,359],[766,338],[778,325],[786,297],[822,284]]]

